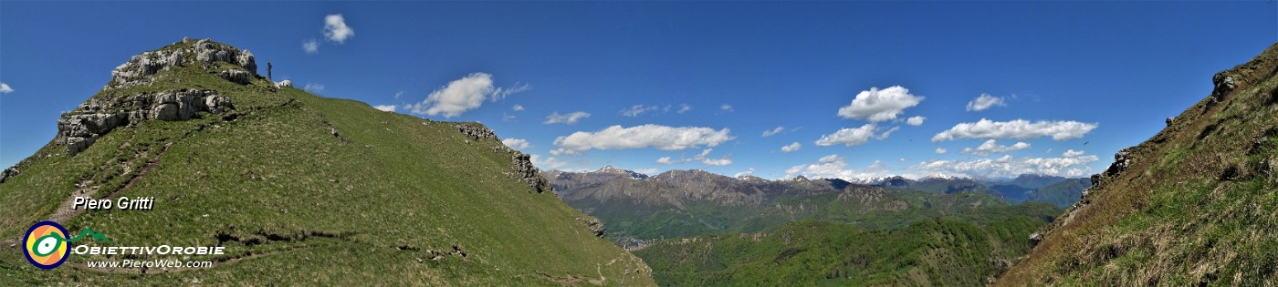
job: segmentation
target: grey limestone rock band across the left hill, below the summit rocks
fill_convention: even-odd
[[[169,91],[125,97],[93,98],[58,120],[56,144],[66,145],[72,156],[84,151],[97,138],[121,125],[155,119],[189,120],[198,112],[221,114],[234,108],[230,99],[216,91]]]

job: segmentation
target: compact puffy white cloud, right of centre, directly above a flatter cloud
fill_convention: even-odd
[[[901,85],[892,85],[882,91],[870,88],[858,93],[851,105],[838,108],[838,116],[870,122],[886,121],[896,119],[896,115],[905,108],[918,106],[923,99],[924,97],[910,94],[910,91]]]

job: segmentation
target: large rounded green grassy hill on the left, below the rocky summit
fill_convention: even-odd
[[[653,284],[642,260],[583,223],[588,216],[542,193],[548,185],[512,176],[518,153],[459,128],[482,125],[382,112],[262,77],[234,83],[219,73],[252,69],[201,61],[193,45],[157,50],[188,51],[183,65],[93,98],[208,89],[234,108],[130,121],[74,156],[51,142],[20,162],[0,184],[0,284]],[[60,205],[74,195],[156,203],[68,213]],[[166,270],[89,269],[86,261],[124,256],[72,255],[46,272],[12,245],[50,218],[111,239],[86,245],[227,254],[185,259],[211,268]]]

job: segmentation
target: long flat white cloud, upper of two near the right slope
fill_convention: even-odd
[[[1077,139],[1086,135],[1097,124],[1079,121],[1035,121],[1012,120],[990,121],[980,119],[976,122],[960,122],[950,130],[932,136],[932,142],[973,139],[1035,139],[1052,136],[1054,140]]]

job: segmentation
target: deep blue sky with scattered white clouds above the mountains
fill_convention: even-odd
[[[542,168],[1086,176],[1273,45],[1278,9],[3,1],[0,165],[49,143],[116,65],[184,36],[252,50],[259,71],[270,60],[326,97],[481,121]]]

